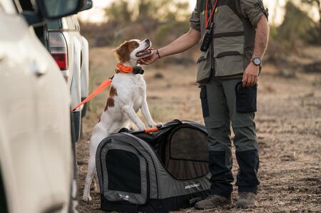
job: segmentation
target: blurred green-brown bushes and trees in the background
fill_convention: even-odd
[[[320,0],[287,0],[284,21],[280,26],[271,26],[267,50],[271,61],[307,44],[321,45],[321,20],[312,21],[307,11],[302,11],[303,5],[305,9],[317,8],[321,16]],[[188,1],[115,0],[105,9],[103,24],[81,23],[81,30],[91,46],[118,46],[132,38],[150,38],[158,47],[188,31],[191,12]],[[186,63],[195,55],[189,52],[178,57]]]

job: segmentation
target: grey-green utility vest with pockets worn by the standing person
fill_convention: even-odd
[[[198,83],[207,82],[213,75],[217,78],[241,78],[250,63],[255,43],[255,27],[241,11],[240,1],[242,0],[218,0],[214,13],[212,46],[208,51],[201,52],[198,58]],[[203,38],[206,0],[198,0],[197,4]]]

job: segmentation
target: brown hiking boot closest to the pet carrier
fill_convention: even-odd
[[[229,206],[232,204],[231,197],[223,197],[216,194],[209,195],[206,199],[195,204],[195,209],[214,209],[215,207]]]

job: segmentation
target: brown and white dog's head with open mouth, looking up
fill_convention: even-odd
[[[121,46],[116,48],[115,53],[120,63],[137,63],[139,59],[151,55],[150,48],[151,41],[149,39],[143,41],[133,39],[123,42]]]

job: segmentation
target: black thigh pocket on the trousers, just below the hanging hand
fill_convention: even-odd
[[[254,113],[257,111],[258,85],[243,87],[242,81],[235,85],[236,111],[238,113]]]

